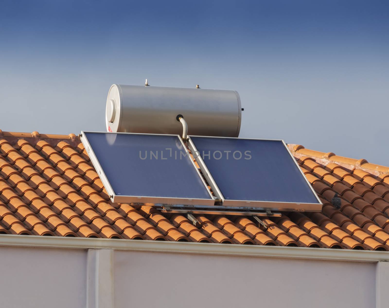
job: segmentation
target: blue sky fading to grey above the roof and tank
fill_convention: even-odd
[[[0,129],[104,131],[111,84],[234,89],[240,137],[389,166],[387,1],[2,1]]]

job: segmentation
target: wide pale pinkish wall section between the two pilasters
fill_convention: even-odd
[[[374,307],[374,263],[115,251],[124,307]]]

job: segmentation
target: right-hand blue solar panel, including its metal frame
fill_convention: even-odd
[[[188,144],[223,206],[321,210],[282,140],[191,136]]]

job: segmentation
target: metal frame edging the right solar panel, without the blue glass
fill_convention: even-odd
[[[282,142],[283,146],[285,147],[285,150],[288,153],[288,156],[292,159],[293,164],[298,169],[298,172],[305,180],[305,183],[307,184],[307,187],[309,187],[310,191],[312,192],[315,200],[317,200],[317,203],[304,203],[304,202],[285,202],[285,201],[260,201],[260,200],[229,200],[226,199],[221,192],[221,189],[217,185],[217,181],[212,177],[211,172],[209,171],[209,168],[207,167],[207,164],[202,159],[201,155],[198,155],[200,152],[196,148],[195,142],[191,138],[194,139],[197,137],[200,138],[217,138],[217,139],[235,139],[235,140],[262,140],[262,141],[277,141]],[[200,166],[200,169],[202,170],[205,178],[207,179],[207,182],[210,184],[212,191],[214,192],[215,196],[222,202],[223,207],[225,208],[231,208],[231,207],[239,207],[239,208],[256,208],[258,210],[283,210],[283,211],[321,211],[322,209],[322,203],[315,193],[314,189],[308,182],[307,178],[305,177],[304,173],[301,171],[300,167],[298,166],[296,160],[294,159],[293,155],[287,148],[284,140],[281,139],[258,139],[258,138],[234,138],[234,137],[209,137],[209,136],[189,136],[187,144],[189,146],[189,149],[192,153],[196,153],[195,158],[198,162],[198,165]],[[238,179],[237,179],[238,180]],[[238,189],[238,187],[237,187]]]

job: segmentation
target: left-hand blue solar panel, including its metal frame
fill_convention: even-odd
[[[178,135],[83,131],[81,141],[114,202],[214,205]]]

